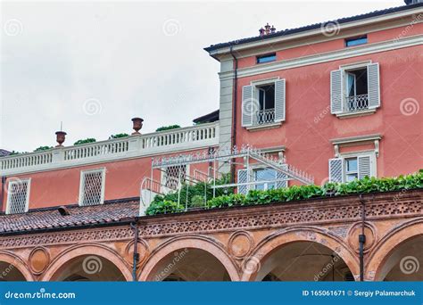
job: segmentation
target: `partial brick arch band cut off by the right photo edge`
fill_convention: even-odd
[[[383,280],[382,268],[391,254],[398,249],[402,243],[411,238],[423,235],[423,218],[413,219],[402,223],[387,233],[375,246],[369,256],[369,263],[366,266],[366,280]]]

